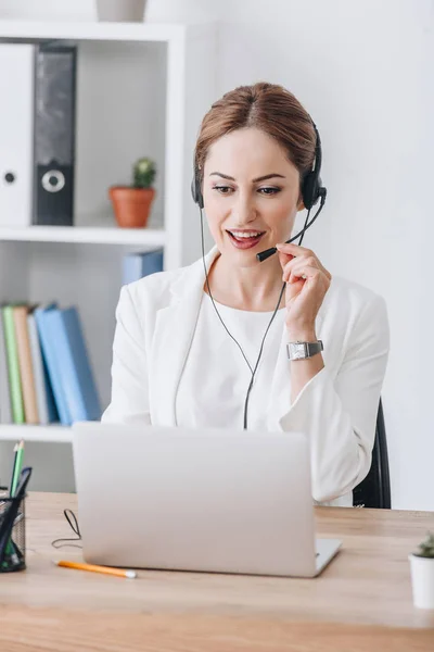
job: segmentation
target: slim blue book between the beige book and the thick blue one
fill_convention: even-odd
[[[51,330],[51,324],[48,321],[48,315],[53,311],[59,310],[55,303],[52,303],[44,308],[37,308],[34,312],[36,326],[38,329],[42,359],[47,366],[47,372],[51,388],[54,396],[55,406],[59,412],[59,418],[61,424],[64,426],[71,425],[71,414],[66,403],[66,397],[63,390],[61,373],[60,373],[60,360],[56,356],[56,350],[54,348],[55,333]],[[50,410],[50,419],[54,418],[53,411]]]

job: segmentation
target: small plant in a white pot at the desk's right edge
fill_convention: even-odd
[[[409,555],[413,603],[419,609],[434,609],[434,534],[427,532],[417,552]]]

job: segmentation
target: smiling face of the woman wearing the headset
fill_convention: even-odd
[[[203,197],[218,250],[241,266],[257,264],[259,251],[288,240],[303,209],[297,168],[256,128],[238,129],[212,145]]]

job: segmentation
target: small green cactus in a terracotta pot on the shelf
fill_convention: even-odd
[[[133,165],[132,186],[112,186],[108,189],[119,226],[123,228],[146,226],[155,197],[155,189],[152,187],[154,178],[155,163],[151,159],[139,159]]]

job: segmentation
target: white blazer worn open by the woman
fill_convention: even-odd
[[[207,254],[207,268],[217,253],[214,248]],[[122,288],[112,400],[103,422],[177,425],[176,393],[204,280],[200,259]],[[291,404],[291,363],[284,355],[279,359],[270,379],[276,399],[267,425],[270,431],[307,435],[315,501],[352,505],[352,490],[371,464],[390,348],[385,301],[372,290],[334,276],[317,315],[316,333],[324,346],[324,368]],[[285,328],[282,338],[288,341]]]

